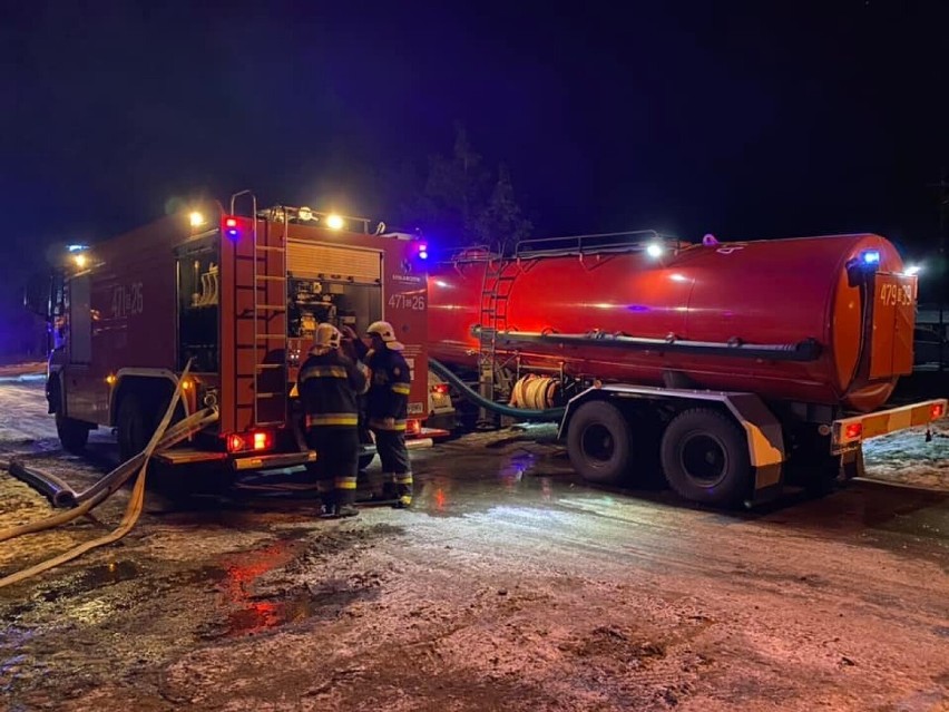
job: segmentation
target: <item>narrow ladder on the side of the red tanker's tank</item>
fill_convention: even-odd
[[[508,298],[516,274],[513,263],[498,256],[497,262],[488,259],[485,264],[485,280],[481,285],[481,329],[478,332],[478,383],[482,398],[495,400],[500,374],[497,363],[498,333],[508,328]],[[516,264],[515,264],[516,266]],[[481,422],[488,422],[491,416],[487,409],[478,412]]]

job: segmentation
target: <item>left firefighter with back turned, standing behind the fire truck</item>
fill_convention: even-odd
[[[342,334],[333,324],[316,326],[313,348],[300,367],[297,389],[306,417],[306,445],[316,451],[310,466],[326,516],[352,517],[359,471],[359,396],[369,388],[369,371],[342,353]]]

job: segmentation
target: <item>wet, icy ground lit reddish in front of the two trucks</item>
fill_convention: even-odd
[[[58,452],[35,384],[0,393],[3,449],[76,482],[114,462],[106,433],[91,459]],[[149,496],[118,545],[0,589],[0,702],[945,710],[949,438],[923,440],[880,440],[867,461],[928,489],[858,481],[753,513],[584,486],[549,428],[413,453],[409,511],[323,521],[300,498]],[[100,535],[126,498],[0,543],[0,574]],[[0,476],[0,528],[48,511]]]

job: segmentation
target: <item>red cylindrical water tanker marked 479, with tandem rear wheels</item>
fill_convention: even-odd
[[[754,504],[854,477],[864,439],[943,417],[941,399],[883,409],[912,370],[916,296],[873,234],[532,240],[431,270],[429,349],[482,404],[562,412],[587,480],[652,460],[687,499]]]

